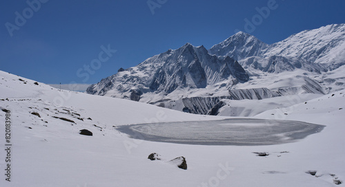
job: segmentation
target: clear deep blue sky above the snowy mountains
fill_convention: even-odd
[[[151,9],[159,5],[154,14],[147,2],[49,0],[40,7],[34,3],[35,12],[26,1],[1,0],[0,70],[50,84],[97,83],[120,67],[135,66],[187,42],[209,49],[235,30],[275,43],[302,30],[345,23],[342,0],[150,0]],[[256,8],[263,7],[271,9],[260,20]],[[16,25],[14,12],[24,12],[26,23],[19,19]],[[253,18],[255,29],[244,28],[244,19],[253,23]],[[6,23],[17,27],[11,28],[12,36]],[[105,62],[99,67],[101,45],[109,44],[117,52],[110,58],[101,54]],[[83,66],[94,59],[91,74]]]

